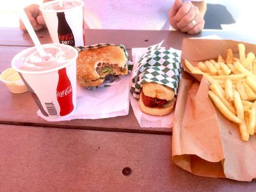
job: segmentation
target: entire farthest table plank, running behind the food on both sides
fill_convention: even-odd
[[[0,46],[34,46],[27,32],[19,28],[0,28]],[[92,45],[96,43],[123,44],[126,48],[148,47],[165,39],[163,46],[181,48],[183,38],[218,35],[223,39],[241,40],[256,43],[255,34],[225,31],[203,31],[197,35],[188,35],[179,31],[146,31],[146,30],[99,30],[86,29],[85,43]],[[51,43],[47,29],[37,31],[41,43]]]

